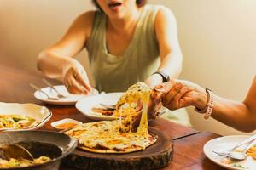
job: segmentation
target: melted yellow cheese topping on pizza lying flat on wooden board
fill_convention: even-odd
[[[84,144],[85,147],[110,150],[125,150],[131,147],[145,149],[153,139],[151,136],[145,138],[138,133],[120,132],[119,121],[84,123],[67,131],[66,134],[79,139],[79,144]]]

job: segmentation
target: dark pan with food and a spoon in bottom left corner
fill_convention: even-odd
[[[9,154],[12,150],[15,154]],[[63,133],[49,131],[8,131],[0,133],[0,170],[57,170],[61,159],[69,155],[77,146],[77,141]],[[4,148],[4,149],[3,149]],[[20,149],[26,150],[25,154]],[[19,150],[19,151],[17,151]]]

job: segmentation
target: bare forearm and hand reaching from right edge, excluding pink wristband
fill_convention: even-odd
[[[163,105],[171,110],[193,105],[203,110],[207,105],[207,93],[195,83],[175,81],[163,83],[155,88],[162,93]],[[224,99],[213,94],[212,117],[219,122],[243,132],[256,129],[256,77],[243,102]]]

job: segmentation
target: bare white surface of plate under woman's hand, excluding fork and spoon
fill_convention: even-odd
[[[84,97],[91,96],[98,94],[97,90],[94,89],[89,95],[75,95],[75,94],[69,94],[67,92],[67,89],[64,85],[58,85],[55,86],[55,88],[62,94],[67,96],[65,99],[47,99],[47,96],[38,90],[34,93],[35,98],[44,101],[45,103],[51,104],[51,105],[75,105],[79,99],[83,99]],[[50,97],[56,97],[56,93],[52,88],[46,87],[41,88],[46,94],[49,94]]]

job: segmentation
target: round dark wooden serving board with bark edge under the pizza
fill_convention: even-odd
[[[77,149],[67,156],[63,163],[78,169],[93,170],[148,170],[166,167],[172,160],[172,139],[154,127],[149,127],[149,132],[156,134],[158,139],[146,150],[127,154],[97,154]]]

